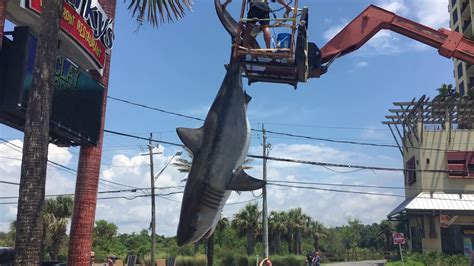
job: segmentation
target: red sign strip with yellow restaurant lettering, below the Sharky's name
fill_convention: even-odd
[[[27,5],[27,7],[29,9],[41,14],[43,10],[43,0],[30,0],[28,2],[29,5]],[[107,50],[105,45],[99,39],[94,38],[94,30],[84,18],[67,3],[64,3],[60,27],[91,56],[99,68],[104,67],[105,52]]]

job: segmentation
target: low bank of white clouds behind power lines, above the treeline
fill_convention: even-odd
[[[15,142],[21,145],[21,141]],[[252,151],[260,150],[259,147],[252,147]],[[163,154],[155,155],[155,172],[163,167],[169,160],[175,150],[164,149],[160,147],[155,150],[161,151]],[[2,156],[12,156],[20,158],[20,153],[10,150],[5,145],[0,145],[0,153]],[[273,146],[270,153],[271,156],[285,157],[294,159],[303,159],[310,161],[324,161],[334,163],[357,163],[371,164],[378,162],[379,164],[393,165],[397,159],[384,157],[373,154],[355,153],[346,150],[340,150],[324,145],[310,144],[277,144]],[[50,150],[51,158],[59,159],[71,158],[71,153],[67,149],[52,148]],[[55,157],[56,156],[56,157]],[[69,164],[70,159],[63,159],[62,163]],[[103,167],[101,177],[118,183],[129,184],[136,187],[148,188],[150,185],[150,170],[147,156],[126,156],[117,154],[110,161],[105,161],[108,167]],[[253,162],[254,168],[249,170],[249,174],[260,178],[262,174],[261,161]],[[337,171],[347,171],[347,169],[334,168]],[[20,161],[6,160],[0,158],[0,176],[2,180],[18,182],[20,171]],[[184,183],[180,182],[185,174],[179,173],[174,167],[169,166],[162,173],[157,181],[157,187],[162,186],[180,186]],[[334,173],[328,169],[283,162],[268,162],[268,178],[269,180],[287,180],[287,181],[312,181],[327,183],[344,183],[344,184],[401,184],[403,178],[401,173],[384,173],[376,174],[369,171],[361,171],[352,174]],[[74,176],[66,176],[63,172],[58,172],[54,168],[48,170],[47,193],[57,194],[74,191]],[[328,188],[327,186],[317,186]],[[3,185],[2,185],[3,188]],[[17,187],[14,187],[17,189]],[[329,187],[337,188],[340,187]],[[100,191],[114,190],[100,185]],[[347,189],[347,188],[344,188]],[[353,189],[363,191],[362,189]],[[157,198],[157,232],[166,236],[176,234],[177,224],[179,220],[182,194],[164,195],[169,192],[182,191],[180,189],[158,190],[160,197]],[[106,219],[118,225],[120,232],[138,232],[142,229],[148,229],[150,223],[150,198],[144,196],[148,191],[138,191],[126,193],[128,199],[100,199],[97,204],[96,220]],[[301,188],[277,187],[270,185],[268,187],[268,205],[269,210],[288,210],[289,208],[301,207],[305,213],[314,219],[321,220],[326,225],[339,225],[346,221],[347,216],[357,217],[365,223],[378,222],[384,219],[389,211],[391,211],[401,198],[391,198],[382,196],[369,196],[359,194],[335,193],[320,190],[308,190]],[[397,193],[387,192],[385,193]],[[255,191],[253,194],[244,192],[241,194],[232,193],[225,206],[223,215],[233,217],[233,215],[245,206],[245,201],[255,200],[254,196],[261,194],[261,191]],[[0,195],[17,195],[17,191],[0,190]],[[100,194],[99,198],[122,196],[124,194]],[[137,197],[138,196],[138,197]],[[166,199],[165,199],[166,198]],[[244,202],[244,203],[242,203]],[[261,206],[261,199],[258,199]],[[240,204],[234,204],[240,203]],[[337,208],[335,208],[337,206]],[[0,205],[0,231],[8,229],[9,222],[16,218],[15,205]]]

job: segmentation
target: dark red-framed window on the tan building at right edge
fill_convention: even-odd
[[[474,178],[474,152],[447,152],[449,178]]]

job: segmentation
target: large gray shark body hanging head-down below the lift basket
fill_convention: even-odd
[[[198,129],[178,128],[181,141],[194,155],[181,203],[179,246],[208,237],[214,231],[232,190],[260,189],[265,182],[241,168],[250,145],[242,69],[230,64],[221,88]]]

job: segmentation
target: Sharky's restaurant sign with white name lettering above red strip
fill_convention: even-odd
[[[27,0],[25,8],[41,14],[43,0]],[[112,19],[97,0],[64,0],[61,29],[65,31],[98,65],[103,68],[105,53],[112,48]]]

